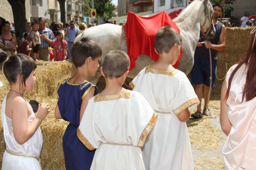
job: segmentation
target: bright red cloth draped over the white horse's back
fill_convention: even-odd
[[[130,70],[135,67],[135,60],[141,54],[150,56],[154,61],[158,59],[159,56],[154,51],[154,39],[157,30],[163,26],[172,26],[172,28],[180,33],[180,29],[166,11],[162,11],[151,17],[140,17],[132,12],[128,12],[127,22],[123,27],[125,29],[127,52],[131,59]],[[182,49],[180,51],[180,57],[181,53]],[[175,68],[177,68],[180,57],[174,65]]]

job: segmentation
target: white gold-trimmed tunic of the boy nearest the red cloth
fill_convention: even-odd
[[[160,113],[142,149],[146,170],[192,170],[186,122],[177,114],[195,108],[199,100],[186,75],[179,71],[144,68],[130,83]]]

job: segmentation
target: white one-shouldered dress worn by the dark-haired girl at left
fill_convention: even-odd
[[[2,170],[41,170],[39,161],[35,158],[26,157],[34,156],[39,158],[43,144],[43,136],[40,127],[34,135],[24,144],[19,144],[14,137],[12,128],[12,119],[6,116],[6,96],[3,99],[1,114],[3,124],[3,136],[6,144],[6,150],[10,153],[23,155],[16,156],[6,151],[3,154]],[[35,118],[32,112],[27,122],[28,125]]]

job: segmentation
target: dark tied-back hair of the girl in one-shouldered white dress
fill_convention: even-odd
[[[14,54],[3,63],[3,73],[10,84],[17,82],[18,76],[22,76],[23,78],[19,82],[21,88],[23,85],[26,86],[26,79],[36,67],[37,65],[31,57]]]

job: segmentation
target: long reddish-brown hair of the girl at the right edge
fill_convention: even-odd
[[[244,85],[244,91],[242,95],[242,100],[249,101],[253,99],[256,96],[256,42],[253,45],[253,40],[255,37],[255,32],[254,34],[251,35],[251,40],[250,40],[250,45],[247,50],[247,54],[245,58],[239,62],[239,64],[236,66],[234,71],[231,73],[230,78],[228,80],[228,86],[227,86],[227,93],[225,96],[225,99],[227,100],[230,92],[230,87],[231,87],[231,82],[236,74],[236,71],[241,67],[241,65],[245,64],[248,68],[247,74],[246,74],[246,82]]]

